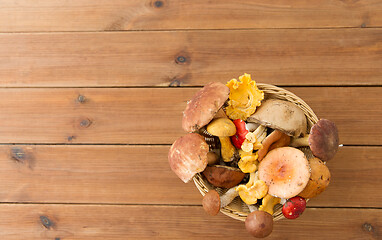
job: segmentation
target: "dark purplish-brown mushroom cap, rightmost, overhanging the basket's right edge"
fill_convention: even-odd
[[[336,124],[320,119],[311,129],[309,147],[313,155],[326,162],[334,157],[338,150],[339,138]]]

